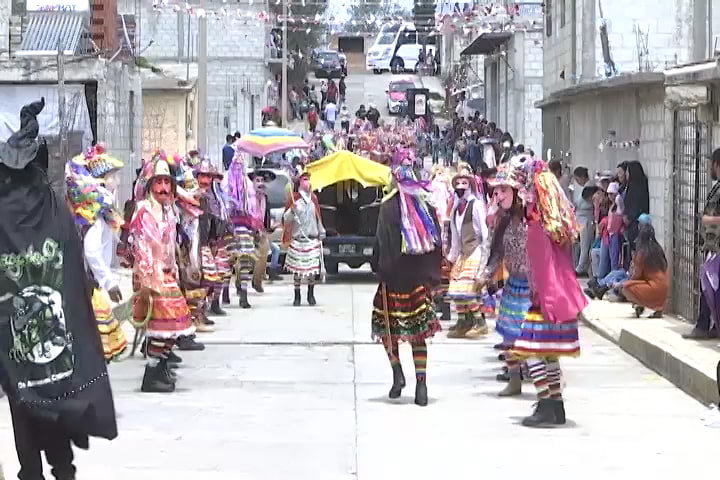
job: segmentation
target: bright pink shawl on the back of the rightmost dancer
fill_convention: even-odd
[[[530,285],[535,301],[549,322],[575,321],[588,302],[575,277],[570,247],[553,242],[535,220],[528,220],[527,235]]]

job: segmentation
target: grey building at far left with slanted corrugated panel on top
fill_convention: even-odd
[[[35,9],[37,5],[42,11]],[[58,5],[65,10],[53,11]],[[40,135],[48,142],[50,179],[58,190],[64,188],[68,158],[59,149],[60,46],[65,63],[67,157],[92,142],[105,143],[127,165],[118,195],[123,201],[130,195],[134,169],[141,160],[142,102],[128,47],[119,41],[120,32],[113,32],[118,28],[117,16],[115,0],[0,0],[0,139],[6,140],[19,127],[22,105],[45,97],[38,119]]]

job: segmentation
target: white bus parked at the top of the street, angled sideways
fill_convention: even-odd
[[[432,38],[432,37],[431,37]],[[365,67],[379,74],[416,71],[423,46],[412,23],[385,24],[368,50]],[[435,51],[435,45],[425,47],[426,55]]]

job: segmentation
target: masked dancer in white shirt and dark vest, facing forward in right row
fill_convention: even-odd
[[[467,169],[452,179],[455,190],[450,212],[450,272],[448,298],[455,302],[458,322],[450,327],[448,338],[478,338],[488,333],[477,279],[487,265],[488,227],[484,196],[476,196],[475,177]]]

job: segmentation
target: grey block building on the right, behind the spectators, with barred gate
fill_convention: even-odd
[[[650,214],[673,272],[672,309],[697,307],[697,212],[717,141],[710,0],[545,2],[543,145],[570,168],[640,161]],[[716,2],[715,2],[716,3]]]

